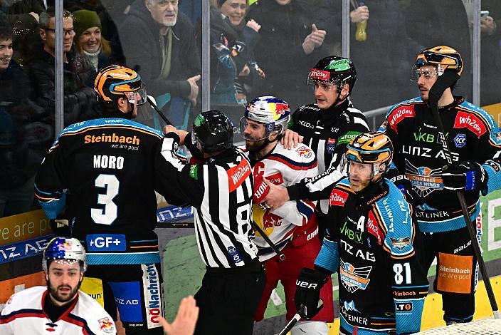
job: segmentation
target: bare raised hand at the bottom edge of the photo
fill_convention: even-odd
[[[176,319],[169,324],[162,316],[159,316],[160,324],[168,335],[191,335],[195,331],[196,319],[199,317],[199,307],[196,306],[194,297],[186,297],[181,300]]]

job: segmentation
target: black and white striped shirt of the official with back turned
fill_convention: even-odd
[[[189,141],[191,134],[186,136]],[[231,148],[199,164],[188,164],[175,154],[179,138],[169,133],[157,155],[155,167],[162,171],[177,199],[194,207],[195,234],[207,267],[233,268],[257,258],[252,220],[253,175],[246,156]]]

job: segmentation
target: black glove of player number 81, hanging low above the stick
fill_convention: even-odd
[[[325,274],[303,267],[296,280],[294,302],[297,313],[304,319],[311,319],[322,309],[319,307],[320,289],[327,282]]]

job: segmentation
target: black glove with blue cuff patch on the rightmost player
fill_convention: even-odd
[[[482,165],[475,162],[458,162],[442,168],[445,190],[483,190],[487,187],[488,177]]]

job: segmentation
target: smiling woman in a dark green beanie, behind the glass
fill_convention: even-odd
[[[110,42],[102,37],[101,21],[95,11],[80,9],[73,12],[73,26],[75,27],[75,51],[87,58],[95,68],[115,64],[112,58]]]

